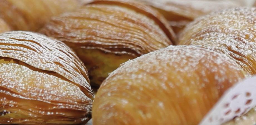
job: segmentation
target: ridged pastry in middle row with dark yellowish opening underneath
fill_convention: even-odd
[[[115,0],[94,1],[55,17],[40,33],[75,50],[94,86],[99,86],[121,63],[176,40],[168,22],[156,10]]]

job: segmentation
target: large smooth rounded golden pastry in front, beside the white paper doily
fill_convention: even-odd
[[[93,103],[94,125],[196,125],[245,77],[225,54],[169,46],[128,61],[109,75]]]

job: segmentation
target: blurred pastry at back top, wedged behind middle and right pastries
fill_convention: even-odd
[[[169,21],[175,33],[197,17],[213,11],[238,7],[239,3],[231,0],[138,0],[161,12]]]

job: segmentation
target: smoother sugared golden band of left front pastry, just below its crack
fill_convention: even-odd
[[[51,73],[33,71],[16,63],[0,64],[0,73],[1,87],[27,99],[60,103],[91,101],[78,86]]]

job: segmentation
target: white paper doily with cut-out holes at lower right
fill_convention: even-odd
[[[200,125],[221,125],[242,116],[256,106],[256,76],[230,88],[200,122]]]

